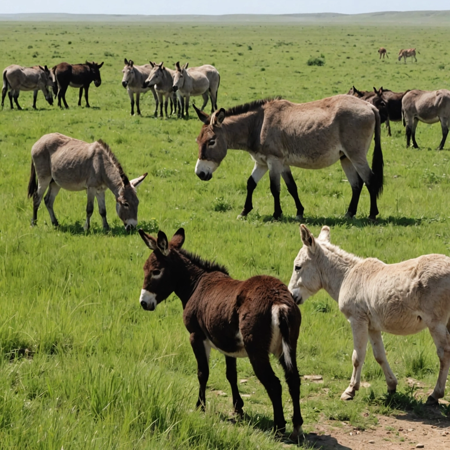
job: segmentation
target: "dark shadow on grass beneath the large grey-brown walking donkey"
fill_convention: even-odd
[[[368,218],[349,219],[347,217],[305,217],[301,222],[296,220],[294,216],[282,216],[279,220],[275,220],[273,216],[261,216],[263,222],[279,222],[285,224],[304,223],[311,226],[336,226],[336,225],[351,225],[357,228],[365,228],[369,226],[413,226],[420,225],[423,219],[414,219],[413,217],[393,217],[379,218],[377,222],[372,222]]]

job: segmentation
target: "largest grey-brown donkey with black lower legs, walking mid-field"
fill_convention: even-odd
[[[370,193],[369,220],[376,220],[377,197],[383,190],[383,153],[380,115],[370,103],[350,95],[336,95],[310,103],[291,103],[279,98],[257,100],[228,111],[220,108],[211,116],[195,105],[194,108],[204,124],[196,139],[195,173],[201,180],[211,180],[228,148],[246,150],[255,162],[247,181],[244,208],[238,218],[247,216],[253,209],[253,191],[269,171],[274,218],[279,219],[283,212],[280,205],[282,176],[297,207],[296,220],[302,220],[304,208],[290,166],[321,169],[340,160],[352,190],[346,216],[355,216],[365,183]],[[374,133],[370,170],[366,155]]]

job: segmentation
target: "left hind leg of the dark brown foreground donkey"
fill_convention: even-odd
[[[286,421],[284,420],[283,403],[281,400],[281,383],[270,365],[269,355],[261,356],[261,353],[259,355],[248,353],[248,358],[252,363],[255,375],[266,388],[267,394],[272,402],[274,409],[274,432],[282,434],[286,429]]]

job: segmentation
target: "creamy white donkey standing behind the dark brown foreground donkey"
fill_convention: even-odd
[[[407,336],[428,327],[441,369],[427,403],[437,404],[450,367],[450,258],[432,254],[385,264],[333,245],[328,226],[317,239],[305,225],[300,225],[300,234],[303,247],[289,282],[294,300],[302,304],[325,289],[351,324],[353,374],[341,399],[352,400],[360,388],[368,339],[386,377],[387,392],[395,392],[397,379],[387,362],[381,332]]]

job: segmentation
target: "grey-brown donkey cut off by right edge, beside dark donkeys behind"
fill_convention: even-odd
[[[401,100],[403,125],[406,126],[406,147],[419,148],[416,142],[416,127],[419,121],[424,123],[441,122],[442,140],[439,150],[444,148],[450,126],[450,90],[419,90],[407,92]]]

